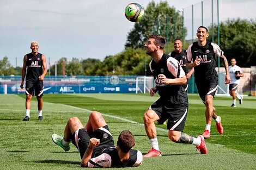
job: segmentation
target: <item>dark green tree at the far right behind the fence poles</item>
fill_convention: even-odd
[[[235,58],[240,67],[256,63],[256,20],[236,18],[220,23],[220,47],[228,61]],[[211,33],[211,29],[209,30]],[[214,42],[217,42],[217,25],[214,25]],[[209,40],[212,40],[210,34]]]

